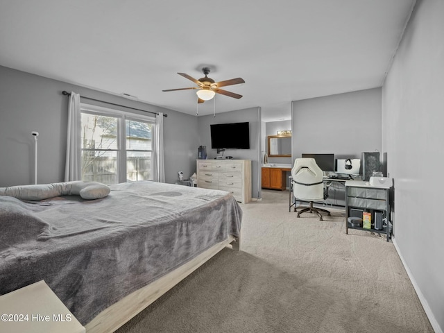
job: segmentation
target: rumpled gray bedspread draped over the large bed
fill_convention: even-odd
[[[83,325],[229,234],[241,208],[225,191],[128,182],[106,198],[0,196],[0,295],[45,282]]]

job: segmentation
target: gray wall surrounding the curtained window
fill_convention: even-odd
[[[191,157],[197,154],[196,117],[0,66],[0,187],[33,184],[33,130],[40,133],[37,181],[42,184],[64,179],[68,99],[61,94],[62,90],[167,113],[168,117],[164,118],[166,180],[174,182],[178,169],[185,175],[194,172]],[[95,104],[112,108],[108,104]]]

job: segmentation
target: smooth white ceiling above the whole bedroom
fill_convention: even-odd
[[[216,113],[380,87],[415,0],[1,0],[0,65],[196,114],[176,74],[244,95]],[[63,89],[63,87],[60,87]],[[198,106],[212,114],[213,101]]]

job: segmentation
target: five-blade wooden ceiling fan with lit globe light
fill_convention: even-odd
[[[245,83],[243,78],[232,78],[231,80],[215,82],[212,78],[209,78],[207,76],[208,74],[210,74],[210,68],[203,67],[202,71],[203,74],[205,74],[205,77],[199,78],[198,80],[189,76],[188,74],[178,73],[184,78],[187,78],[188,80],[191,80],[194,83],[196,83],[196,85],[198,85],[197,87],[167,89],[167,90],[162,90],[162,92],[175,92],[176,90],[198,89],[198,91],[196,92],[198,96],[197,103],[203,103],[205,101],[209,101],[214,97],[216,93],[229,96],[234,99],[240,99],[242,97],[242,95],[235,94],[234,92],[228,92],[226,90],[220,89],[220,87],[225,87],[227,85],[239,85],[239,83]]]

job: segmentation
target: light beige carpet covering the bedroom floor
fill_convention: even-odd
[[[343,210],[289,212],[288,191],[241,205],[241,251],[224,249],[117,330],[434,332],[391,242]]]

